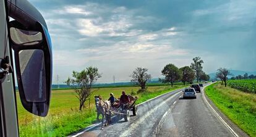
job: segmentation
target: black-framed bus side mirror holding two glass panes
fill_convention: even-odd
[[[22,105],[28,112],[45,117],[49,110],[52,79],[48,30],[40,23],[33,28],[25,28],[13,20],[9,24],[9,32]]]

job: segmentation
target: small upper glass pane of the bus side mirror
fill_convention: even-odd
[[[39,31],[20,30],[19,28],[10,28],[11,39],[15,44],[33,45],[41,43],[42,33]]]

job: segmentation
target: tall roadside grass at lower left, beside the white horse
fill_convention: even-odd
[[[73,110],[67,114],[33,116],[33,122],[19,126],[20,136],[67,136],[95,122],[94,109]]]

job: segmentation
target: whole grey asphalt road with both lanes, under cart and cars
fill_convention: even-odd
[[[234,136],[210,106],[197,99],[183,99],[182,89],[164,94],[138,107],[137,116],[129,122],[114,118],[114,123],[100,126],[80,136]]]

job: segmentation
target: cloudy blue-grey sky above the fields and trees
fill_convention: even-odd
[[[99,83],[130,81],[136,67],[163,77],[166,64],[256,71],[254,0],[29,0],[53,44],[53,84],[98,67]]]

